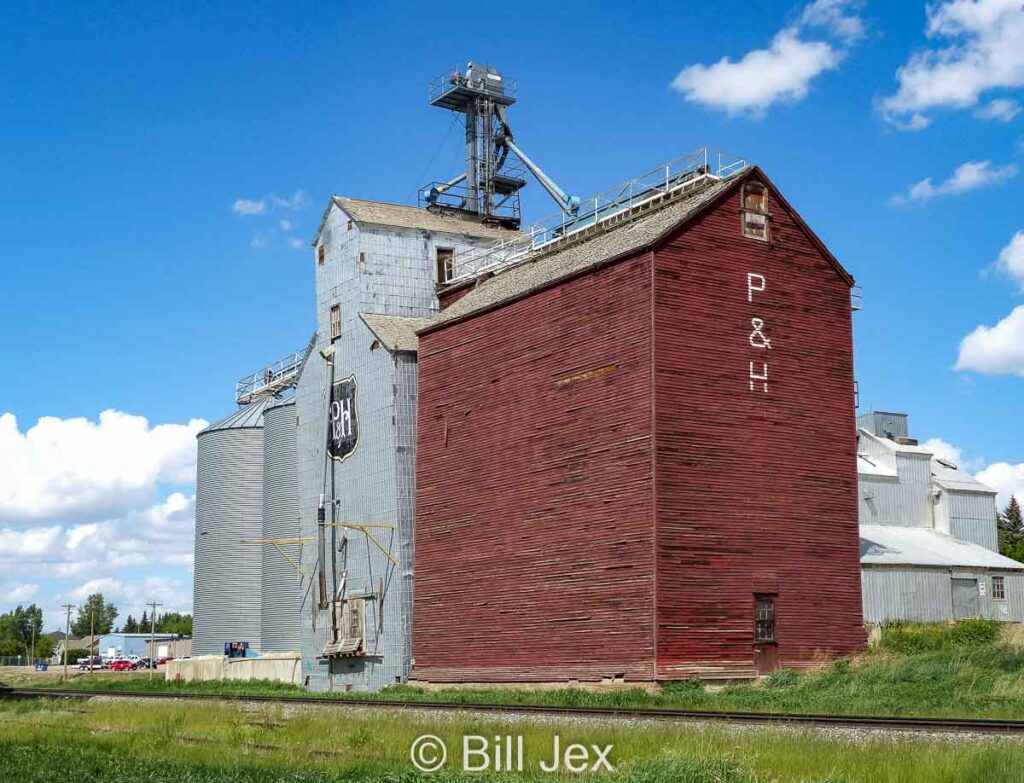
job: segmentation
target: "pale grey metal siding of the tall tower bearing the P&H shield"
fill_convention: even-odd
[[[367,613],[368,647],[373,654],[365,658],[329,663],[321,657],[330,620],[326,611],[314,609],[315,584],[311,590],[303,584],[303,677],[313,690],[376,690],[404,680],[410,668],[416,357],[392,356],[380,347],[371,350],[374,335],[358,314],[422,317],[436,312],[436,248],[458,252],[484,241],[407,228],[348,229],[347,217],[337,208],[328,215],[322,237],[326,252],[325,263],[316,264],[318,338],[296,393],[300,529],[303,535],[316,534],[317,497],[325,486],[328,404],[326,365],[317,351],[332,345],[330,311],[340,305],[342,337],[333,343],[336,377],[355,376],[359,409],[358,447],[333,468],[341,514],[348,520],[396,525],[393,539],[387,531],[377,535],[396,556],[398,566],[386,592],[380,634],[376,607]],[[332,536],[336,553],[342,535],[336,528]],[[337,553],[339,570],[347,570],[346,593],[376,592],[377,578],[387,573],[386,559],[355,531],[347,533],[346,549],[346,557]],[[315,574],[315,546],[303,549],[302,563],[306,573]]]

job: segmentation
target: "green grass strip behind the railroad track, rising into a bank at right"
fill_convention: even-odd
[[[1009,634],[1013,628],[1005,628]],[[2,676],[0,676],[2,677]],[[49,685],[57,685],[52,679]],[[144,678],[73,680],[68,687],[210,695],[310,695],[301,688],[265,682],[175,683]],[[558,690],[424,690],[392,686],[379,694],[321,694],[326,699],[391,699],[422,702],[541,704],[549,706],[649,707],[810,712],[865,715],[1024,717],[1024,649],[1000,637],[997,623],[893,625],[856,660],[838,660],[817,671],[777,671],[758,683],[710,689],[698,681],[668,683],[657,694],[641,689],[595,692]]]

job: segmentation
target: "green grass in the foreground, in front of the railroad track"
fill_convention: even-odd
[[[409,749],[424,733],[452,748],[459,769],[465,734],[521,734],[522,774],[422,775]],[[823,738],[811,732],[730,732],[673,724],[543,723],[452,713],[351,713],[269,704],[27,700],[0,702],[0,780],[18,783],[497,783],[575,777],[542,775],[555,734],[563,743],[611,744],[625,783],[1002,783],[1019,781],[1024,743],[952,743],[912,735]]]

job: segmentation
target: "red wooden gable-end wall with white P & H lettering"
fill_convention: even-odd
[[[777,593],[782,666],[864,642],[849,285],[773,193],[770,243],[739,210],[737,189],[655,252],[663,679],[754,673],[755,593]]]

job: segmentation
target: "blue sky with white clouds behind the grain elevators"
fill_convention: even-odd
[[[705,143],[762,166],[864,287],[863,409],[1024,488],[1021,3],[503,8],[6,9],[0,609],[188,608],[195,420],[305,344],[331,193],[412,202],[459,171],[426,84],[469,59],[517,81],[517,142],[581,195]]]

